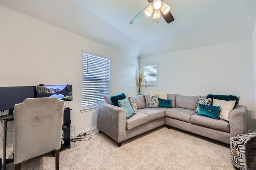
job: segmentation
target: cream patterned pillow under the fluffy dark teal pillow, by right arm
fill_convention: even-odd
[[[234,109],[236,100],[213,99],[212,106],[220,106],[220,119],[229,121],[229,114]]]

